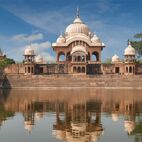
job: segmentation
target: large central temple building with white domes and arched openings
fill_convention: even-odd
[[[52,47],[57,55],[56,62],[67,65],[69,73],[100,72],[101,52],[105,45],[96,34],[90,32],[79,12]],[[64,60],[61,56],[64,56]]]

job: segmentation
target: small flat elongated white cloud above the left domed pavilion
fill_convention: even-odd
[[[32,41],[35,41],[35,40],[43,39],[43,34],[42,33],[37,33],[37,34],[32,34],[32,35],[18,34],[18,35],[14,35],[12,37],[12,39],[15,40],[15,41],[28,41],[28,42],[32,42]]]

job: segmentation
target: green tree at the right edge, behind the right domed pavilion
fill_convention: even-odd
[[[132,46],[135,48],[138,58],[142,57],[142,33],[134,35],[136,40],[131,40]]]

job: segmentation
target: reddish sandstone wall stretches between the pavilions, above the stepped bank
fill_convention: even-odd
[[[70,73],[66,64],[37,64],[34,74],[57,74]],[[88,64],[87,74],[116,74],[115,69],[119,68],[119,74],[125,73],[125,64]],[[42,68],[42,73],[40,72]],[[97,70],[97,71],[96,71]],[[25,74],[24,64],[12,64],[5,68],[6,74]],[[135,64],[135,74],[142,74],[142,64]]]

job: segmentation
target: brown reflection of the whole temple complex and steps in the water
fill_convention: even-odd
[[[142,141],[141,90],[1,90],[0,125],[15,112],[23,114],[29,133],[47,112],[55,113],[52,134],[66,142],[105,141],[111,126],[105,127],[102,117],[114,122],[123,117],[124,133]]]

